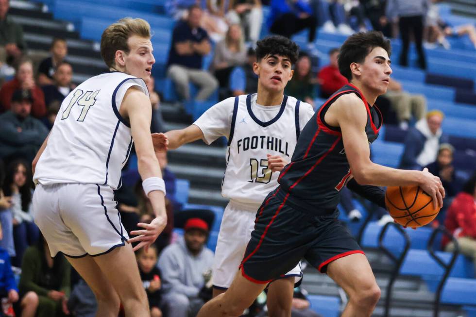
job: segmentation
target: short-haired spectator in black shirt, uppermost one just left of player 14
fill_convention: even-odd
[[[38,84],[40,86],[55,84],[55,78],[53,75],[56,71],[56,68],[64,62],[65,57],[68,54],[68,45],[66,40],[60,37],[53,38],[50,51],[51,56],[41,61],[40,65],[38,66]]]

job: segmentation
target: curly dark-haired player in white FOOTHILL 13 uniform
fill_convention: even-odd
[[[310,104],[284,95],[293,73],[291,66],[297,60],[297,45],[282,36],[256,44],[257,94],[228,98],[186,129],[153,135],[159,151],[198,139],[206,144],[220,136],[228,139],[221,193],[230,202],[221,220],[215,251],[214,296],[231,285],[250,240],[256,210],[277,186],[279,171],[290,161],[299,133],[314,115]],[[302,277],[299,265],[270,284],[269,316],[290,316],[296,277]]]

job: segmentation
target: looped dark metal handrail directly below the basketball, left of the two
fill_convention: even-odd
[[[398,258],[393,253],[391,253],[387,248],[385,248],[384,245],[383,245],[383,238],[384,238],[385,233],[387,232],[387,230],[390,228],[390,226],[395,227],[397,229],[397,231],[400,232],[403,235],[404,239],[405,239],[404,250],[403,250],[402,253],[400,253],[400,256]],[[393,270],[391,272],[389,283],[387,284],[387,294],[385,296],[384,316],[388,317],[389,316],[389,311],[390,311],[390,298],[391,298],[393,283],[395,283],[395,280],[398,276],[398,273],[400,272],[400,267],[402,267],[403,260],[405,259],[405,256],[407,255],[408,250],[410,249],[410,238],[408,237],[408,234],[405,232],[405,230],[402,229],[402,227],[400,225],[398,225],[396,223],[393,223],[393,222],[388,222],[387,224],[385,224],[382,231],[380,231],[380,234],[378,236],[378,247],[393,262],[395,262],[395,265],[394,265]]]

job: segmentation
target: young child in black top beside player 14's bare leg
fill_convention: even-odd
[[[148,250],[141,248],[136,251],[140,279],[144,285],[151,309],[151,317],[162,317],[160,302],[162,299],[160,270],[157,267],[157,249],[151,245]]]

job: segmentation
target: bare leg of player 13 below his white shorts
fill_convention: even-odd
[[[294,276],[272,281],[268,286],[267,305],[268,311],[276,309],[290,310],[292,295],[294,293]]]

